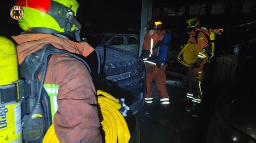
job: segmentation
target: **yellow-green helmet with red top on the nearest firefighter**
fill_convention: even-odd
[[[24,9],[18,20],[20,28],[28,33],[61,33],[75,36],[81,24],[75,19],[79,4],[76,0],[16,0]]]

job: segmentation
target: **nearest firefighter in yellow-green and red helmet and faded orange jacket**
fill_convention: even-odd
[[[79,42],[76,0],[16,0],[15,5],[24,9],[24,17],[18,20],[24,33],[12,36],[19,64],[47,43],[85,57],[93,52],[88,43]],[[82,62],[63,54],[52,55],[44,86],[48,95],[57,95],[54,128],[61,143],[102,142],[96,90]]]

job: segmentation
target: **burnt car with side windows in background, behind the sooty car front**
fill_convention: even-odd
[[[139,35],[133,33],[101,33],[94,35],[92,45],[103,44],[139,54]]]

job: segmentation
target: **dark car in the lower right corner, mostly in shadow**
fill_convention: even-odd
[[[245,82],[225,87],[210,120],[207,143],[256,143],[256,92]]]

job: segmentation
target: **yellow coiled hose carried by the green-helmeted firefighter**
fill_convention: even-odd
[[[187,67],[192,67],[190,64],[194,63],[198,57],[199,47],[197,43],[187,43],[184,48],[179,52],[177,57],[178,61]],[[201,63],[204,65],[208,60],[208,57]]]

